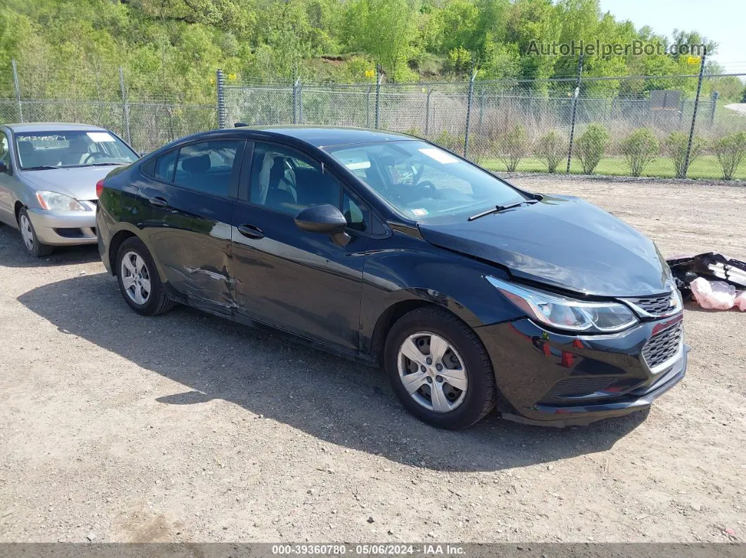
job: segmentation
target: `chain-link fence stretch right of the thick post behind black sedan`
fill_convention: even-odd
[[[721,178],[716,143],[739,132],[746,141],[746,115],[718,103],[716,83],[706,83],[716,78],[704,76],[699,88],[696,75],[271,86],[233,80],[222,86],[222,125],[406,132],[497,172]],[[746,179],[746,158],[732,177]]]

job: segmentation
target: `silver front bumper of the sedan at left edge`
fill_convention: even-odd
[[[95,244],[94,211],[29,209],[28,218],[42,244]]]

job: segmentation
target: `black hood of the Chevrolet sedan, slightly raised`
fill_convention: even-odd
[[[544,196],[467,221],[420,223],[425,240],[491,261],[518,279],[604,297],[671,290],[655,244],[602,209],[569,196]]]

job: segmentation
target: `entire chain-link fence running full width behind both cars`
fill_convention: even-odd
[[[205,77],[213,104],[155,92],[119,68],[86,75],[0,63],[0,122],[96,124],[139,151],[235,122],[357,126],[421,136],[496,172],[717,179],[730,164],[730,177],[746,179],[746,160],[727,152],[746,150],[746,114],[718,100],[724,76],[322,84],[218,71]]]

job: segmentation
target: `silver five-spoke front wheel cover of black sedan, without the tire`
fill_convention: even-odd
[[[466,397],[468,378],[463,358],[443,337],[417,332],[401,343],[399,379],[419,405],[436,413],[448,413]]]

